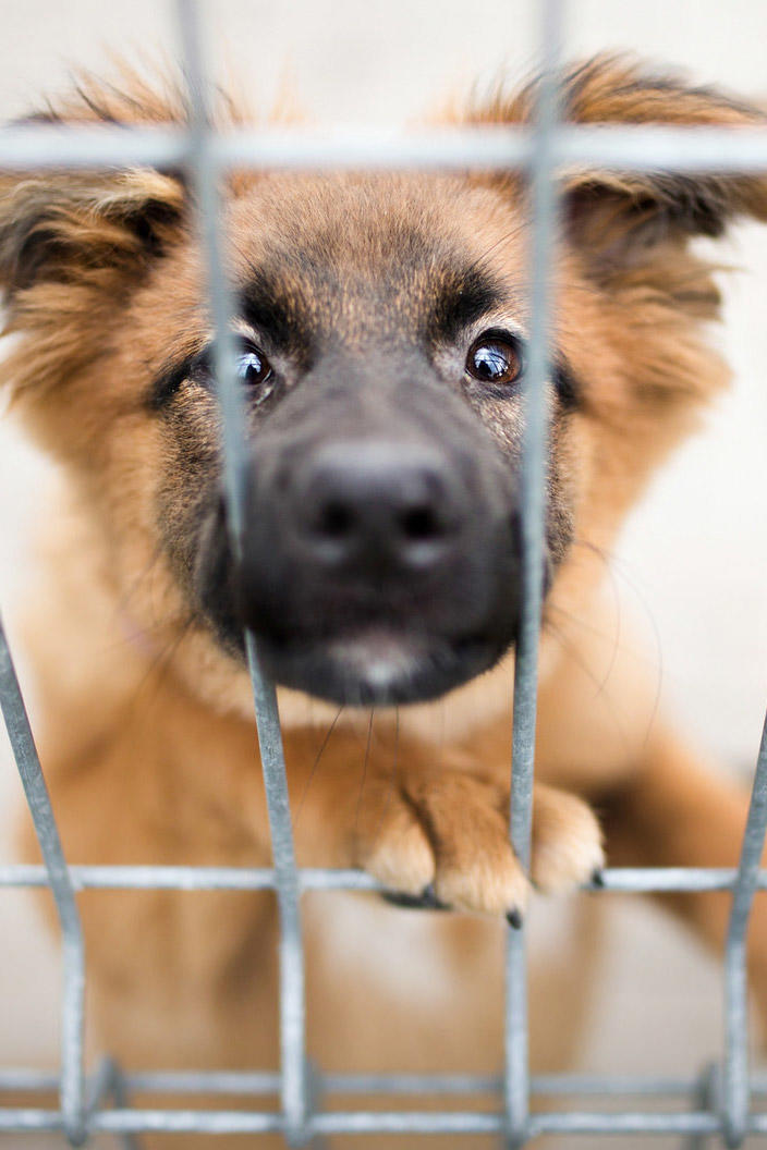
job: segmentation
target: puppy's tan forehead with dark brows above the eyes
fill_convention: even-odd
[[[491,199],[489,204],[488,200]],[[256,181],[231,205],[237,291],[256,320],[360,340],[423,337],[500,301],[484,256],[512,240],[512,208],[446,177],[328,176]]]

